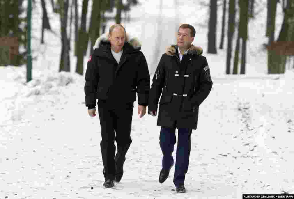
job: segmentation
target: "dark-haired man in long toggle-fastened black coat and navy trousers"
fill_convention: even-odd
[[[168,47],[159,61],[148,103],[148,113],[156,116],[161,95],[157,120],[157,125],[161,126],[159,143],[163,153],[160,183],[168,178],[174,164],[172,152],[178,128],[173,183],[180,193],[186,192],[184,181],[191,151],[191,133],[197,128],[198,107],[212,88],[210,69],[206,58],[201,55],[202,49],[191,44],[194,36],[192,25],[180,26],[177,45]]]

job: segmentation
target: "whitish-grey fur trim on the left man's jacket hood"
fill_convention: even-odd
[[[128,42],[134,49],[141,49],[141,42],[138,40],[136,37],[132,37],[128,33],[126,33],[126,40],[125,42]],[[108,40],[108,33],[104,33],[101,35],[95,42],[95,45],[93,46],[93,49],[95,50],[96,48],[99,48],[102,43],[110,43]]]

